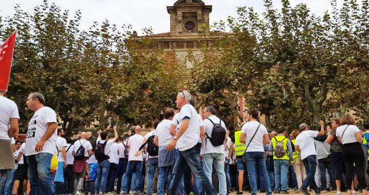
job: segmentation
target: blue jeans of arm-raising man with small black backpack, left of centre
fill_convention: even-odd
[[[105,192],[105,187],[108,179],[110,162],[109,160],[97,161],[95,193]]]

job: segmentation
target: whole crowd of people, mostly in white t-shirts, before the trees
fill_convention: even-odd
[[[26,102],[34,111],[27,134],[18,134],[17,106],[4,95],[0,194],[367,194],[369,187],[369,123],[359,128],[351,115],[268,133],[252,109],[230,136],[213,106],[201,116],[181,91],[177,110],[166,109],[145,136],[138,125],[120,136],[109,125],[96,140],[86,132],[71,140],[37,92]]]

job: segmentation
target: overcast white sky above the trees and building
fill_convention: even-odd
[[[337,1],[339,6],[342,1]],[[55,3],[62,10],[69,10],[70,16],[76,10],[80,10],[81,30],[87,30],[93,21],[101,22],[108,19],[111,24],[116,24],[118,27],[131,24],[133,30],[137,30],[139,34],[145,27],[152,27],[154,33],[169,32],[167,6],[172,6],[174,2],[174,0],[49,0],[49,3]],[[225,20],[229,15],[235,16],[236,7],[250,6],[258,13],[264,10],[262,0],[204,0],[203,2],[213,6],[213,12],[210,14],[211,24],[220,19]],[[275,8],[281,8],[280,0],[273,0],[273,2]],[[319,16],[331,10],[330,0],[290,0],[290,2],[292,6],[305,3],[312,13]],[[0,4],[0,16],[12,15],[16,4],[20,4],[23,10],[33,13],[33,8],[42,5],[43,0],[4,0]]]

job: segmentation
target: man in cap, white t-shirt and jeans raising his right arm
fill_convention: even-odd
[[[308,186],[310,189],[314,189],[315,193],[320,194],[320,190],[315,183],[314,176],[317,167],[316,150],[314,144],[314,138],[324,136],[324,122],[319,121],[320,132],[309,130],[309,126],[306,123],[300,124],[299,128],[302,131],[296,137],[295,149],[301,152],[301,160],[306,170],[306,178],[304,179],[300,191],[305,195],[308,195]]]

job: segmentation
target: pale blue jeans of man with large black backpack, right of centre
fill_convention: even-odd
[[[202,167],[210,181],[212,179],[213,164],[219,179],[219,194],[227,194],[226,173],[224,172],[224,154],[210,153],[202,155]]]

